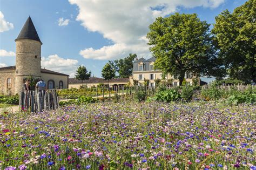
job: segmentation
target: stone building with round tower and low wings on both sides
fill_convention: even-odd
[[[35,26],[29,17],[16,42],[16,66],[0,68],[0,93],[18,94],[24,90],[24,80],[42,78],[48,89],[68,89],[69,75],[41,68],[41,45]]]

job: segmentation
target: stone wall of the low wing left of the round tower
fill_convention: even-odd
[[[7,87],[7,79],[10,78],[10,87]],[[13,95],[15,94],[15,70],[0,71],[0,94]]]

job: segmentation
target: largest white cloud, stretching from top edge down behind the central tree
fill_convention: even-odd
[[[79,9],[77,21],[89,31],[99,32],[114,45],[100,49],[87,48],[80,51],[84,58],[114,59],[137,53],[138,57],[150,56],[146,44],[148,27],[156,17],[166,16],[179,7],[216,8],[225,0],[69,0]]]

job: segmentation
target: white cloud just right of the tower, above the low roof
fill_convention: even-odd
[[[41,65],[42,68],[45,67],[45,69],[69,74],[70,77],[73,77],[78,67],[78,60],[69,58],[65,59],[58,55],[51,55],[48,57],[42,57]]]

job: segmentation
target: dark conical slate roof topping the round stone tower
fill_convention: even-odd
[[[21,32],[19,32],[19,35],[15,39],[15,41],[18,39],[32,39],[32,40],[36,40],[36,41],[42,43],[40,38],[38,37],[36,28],[32,22],[32,19],[30,18],[30,16],[28,19],[26,19],[26,22],[23,25],[23,28],[22,28]]]

